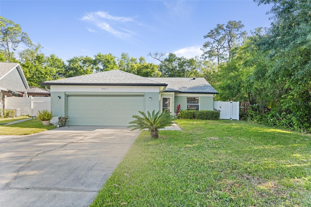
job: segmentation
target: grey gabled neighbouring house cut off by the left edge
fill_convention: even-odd
[[[0,62],[0,104],[4,96],[22,96],[19,91],[29,89],[25,75],[19,63]]]

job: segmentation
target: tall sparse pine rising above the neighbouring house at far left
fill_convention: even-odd
[[[25,32],[22,32],[21,26],[13,21],[0,16],[0,48],[5,53],[6,60],[11,62],[16,60],[12,50],[16,50],[20,43],[31,46],[32,42]]]

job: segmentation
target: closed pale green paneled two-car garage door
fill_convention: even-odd
[[[144,96],[67,96],[68,125],[128,126],[145,111]]]

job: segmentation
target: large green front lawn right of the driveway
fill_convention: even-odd
[[[311,136],[243,121],[143,131],[90,206],[311,206]]]

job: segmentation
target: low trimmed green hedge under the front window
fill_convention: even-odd
[[[218,120],[220,117],[220,111],[209,110],[184,110],[181,111],[177,118],[180,119],[203,119],[203,120]]]

